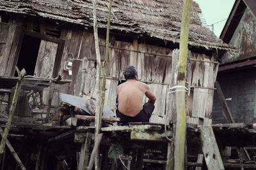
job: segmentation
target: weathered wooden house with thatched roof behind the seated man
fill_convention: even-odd
[[[14,76],[15,67],[28,75],[70,79],[61,92],[95,97],[95,45],[90,1],[0,1],[0,75]],[[97,4],[100,54],[105,54],[108,1]],[[156,94],[150,122],[168,113],[172,51],[179,48],[182,1],[113,1],[110,26],[106,101],[116,109],[116,87],[127,65],[138,69],[140,81]],[[202,26],[195,2],[189,28],[191,123],[211,117],[218,55],[230,46]],[[84,59],[84,65],[83,65]],[[83,73],[84,71],[84,73]]]

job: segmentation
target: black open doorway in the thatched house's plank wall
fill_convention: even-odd
[[[24,35],[17,67],[20,70],[23,68],[26,69],[26,75],[34,75],[40,42],[41,39],[39,38]],[[17,73],[15,73],[15,76],[17,76]]]

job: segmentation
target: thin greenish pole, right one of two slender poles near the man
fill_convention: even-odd
[[[101,94],[101,105],[100,105],[100,116],[103,114],[104,108],[104,101],[105,101],[105,92],[106,92],[106,67],[108,66],[108,57],[109,57],[109,27],[110,27],[110,16],[111,16],[111,7],[112,7],[112,0],[109,0],[108,6],[108,27],[106,33],[106,55],[105,60],[103,62],[102,67],[102,94]]]

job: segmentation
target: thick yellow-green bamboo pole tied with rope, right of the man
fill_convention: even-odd
[[[180,52],[177,85],[186,86],[186,67],[188,60],[188,36],[191,0],[185,0],[182,11],[182,23],[180,28]],[[176,92],[177,126],[174,141],[174,169],[184,169],[185,140],[186,140],[186,92]]]

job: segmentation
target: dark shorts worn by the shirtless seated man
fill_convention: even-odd
[[[127,115],[122,114],[118,109],[116,110],[116,117],[121,119],[121,124],[126,124],[128,122],[149,122],[149,118],[154,111],[154,104],[148,102],[143,105],[142,110],[135,117],[129,117]]]

